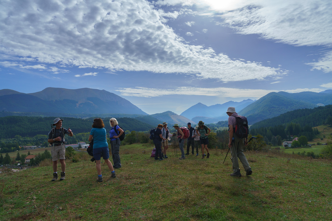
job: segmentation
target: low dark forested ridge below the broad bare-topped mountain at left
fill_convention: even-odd
[[[21,137],[34,137],[36,135],[47,135],[51,130],[51,124],[55,117],[21,117],[8,116],[0,118],[0,138],[14,138],[16,135]],[[109,119],[103,119],[106,131],[111,129]],[[119,126],[124,131],[148,131],[156,126],[133,118],[117,118]],[[64,118],[62,126],[70,128],[74,134],[88,133],[91,131],[93,118]]]

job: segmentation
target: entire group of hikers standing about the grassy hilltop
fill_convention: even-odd
[[[238,158],[240,159],[245,171],[246,175],[249,176],[252,174],[251,167],[249,166],[248,160],[245,157],[243,150],[244,146],[247,145],[248,139],[242,138],[238,136],[238,133],[235,133],[237,130],[237,118],[242,117],[235,112],[234,107],[228,107],[226,114],[228,117],[228,127],[229,127],[229,142],[228,148],[231,151],[231,161],[233,166],[233,173],[230,174],[232,177],[241,177],[240,168]],[[246,119],[246,118],[245,118]],[[52,167],[53,167],[53,179],[51,181],[55,181],[58,179],[57,174],[57,164],[58,160],[61,164],[61,173],[60,180],[65,179],[65,134],[70,137],[73,136],[73,132],[70,128],[65,129],[62,127],[61,118],[55,118],[53,121],[52,130],[48,133],[48,142],[51,144],[51,156],[52,156]],[[247,123],[247,122],[246,122]],[[96,161],[96,169],[97,169],[97,181],[102,182],[102,171],[101,171],[101,157],[103,157],[105,163],[107,164],[109,170],[111,171],[111,177],[116,177],[115,170],[121,167],[120,160],[120,138],[124,131],[119,127],[118,121],[115,118],[110,119],[111,130],[109,132],[110,135],[110,143],[111,143],[111,152],[113,164],[109,160],[109,148],[107,143],[107,132],[105,129],[105,125],[102,119],[95,118],[92,125],[92,130],[90,132],[89,141],[93,139],[93,157]],[[186,127],[179,127],[178,124],[174,124],[174,128],[177,131],[176,133],[171,134],[168,130],[167,123],[163,122],[159,124],[157,128],[154,130],[153,143],[156,148],[155,152],[155,160],[163,160],[164,158],[168,158],[166,151],[168,149],[168,141],[171,140],[171,137],[177,136],[179,147],[181,150],[180,160],[184,160],[185,155],[190,154],[190,146],[192,146],[192,154],[194,154],[194,150],[196,147],[196,156],[199,155],[199,144],[202,148],[202,159],[209,158],[210,153],[207,148],[208,144],[208,136],[211,130],[204,125],[203,121],[199,121],[198,125],[193,128],[191,127],[191,123],[187,124]],[[184,151],[184,140],[187,138],[187,153]],[[207,154],[204,151],[207,151]]]

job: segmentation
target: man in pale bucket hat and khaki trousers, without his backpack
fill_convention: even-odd
[[[248,138],[245,138],[243,141],[242,138],[239,138],[235,134],[235,126],[236,126],[236,119],[235,116],[238,114],[235,112],[235,107],[228,107],[226,114],[228,115],[228,133],[229,133],[229,142],[228,148],[230,148],[230,152],[232,155],[232,164],[233,164],[233,173],[230,174],[232,177],[240,177],[240,168],[239,168],[239,161],[237,158],[240,159],[245,171],[246,175],[249,176],[252,174],[251,167],[249,166],[248,160],[243,153],[244,145],[248,144]]]

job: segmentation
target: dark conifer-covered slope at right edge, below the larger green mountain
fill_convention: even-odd
[[[330,117],[332,117],[332,105],[316,107],[313,109],[298,109],[289,111],[274,118],[257,122],[253,124],[250,129],[275,127],[278,125],[286,126],[291,122],[299,124],[301,127],[304,127],[305,125],[317,127],[319,125],[326,124]]]

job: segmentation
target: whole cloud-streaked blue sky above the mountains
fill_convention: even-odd
[[[148,114],[324,91],[331,11],[329,0],[2,0],[0,89],[104,89]]]

